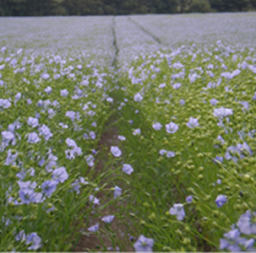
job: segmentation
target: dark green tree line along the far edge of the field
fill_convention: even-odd
[[[0,0],[0,16],[128,15],[256,10],[256,0]]]

